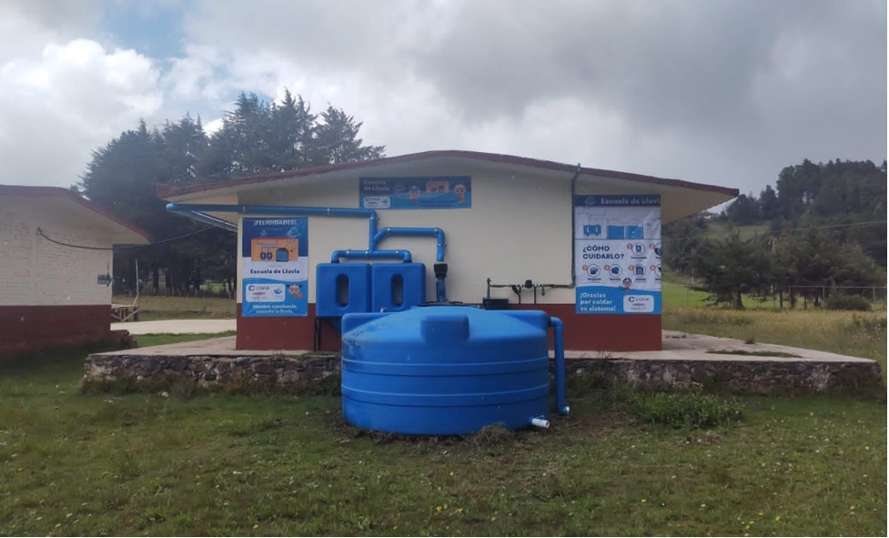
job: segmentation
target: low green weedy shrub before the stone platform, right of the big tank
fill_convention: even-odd
[[[641,421],[673,428],[725,426],[743,418],[743,403],[694,392],[642,392],[631,400],[631,411]]]

